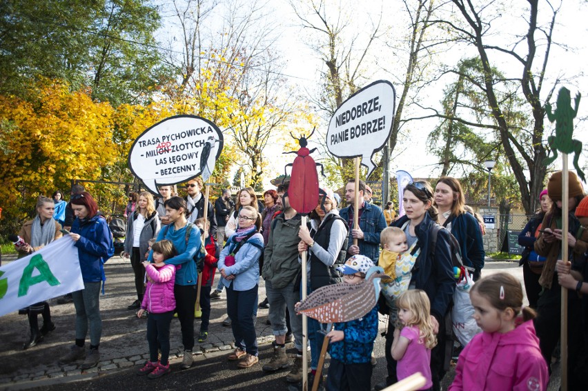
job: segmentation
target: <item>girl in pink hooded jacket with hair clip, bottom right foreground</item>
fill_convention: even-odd
[[[535,312],[522,308],[520,281],[507,273],[492,274],[473,285],[470,297],[482,332],[462,350],[449,391],[547,390]]]

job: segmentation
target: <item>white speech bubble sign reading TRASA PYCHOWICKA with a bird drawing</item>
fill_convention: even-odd
[[[175,185],[215,168],[223,147],[220,129],[196,115],[176,115],[145,130],[133,143],[128,167],[153,194],[157,186]]]

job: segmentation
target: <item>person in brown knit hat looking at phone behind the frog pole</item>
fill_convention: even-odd
[[[580,222],[574,216],[578,203],[584,198],[582,183],[574,172],[569,172],[569,214],[568,220],[568,245],[569,254],[574,252],[576,246],[575,235],[580,228]],[[562,172],[551,175],[547,184],[547,194],[553,200],[549,212],[545,214],[541,223],[543,232],[535,242],[535,251],[546,258],[539,283],[543,292],[537,301],[538,317],[535,320],[535,328],[539,337],[541,354],[551,362],[551,354],[556,348],[560,337],[560,312],[561,312],[561,288],[558,283],[556,263],[561,258],[562,247]],[[566,260],[567,261],[567,260]],[[568,295],[568,366],[569,390],[585,390],[582,374],[577,371],[578,363],[583,350],[582,302],[578,295]],[[551,372],[551,370],[550,370]],[[580,371],[581,372],[581,371]]]

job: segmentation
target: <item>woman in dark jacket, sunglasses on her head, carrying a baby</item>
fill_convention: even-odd
[[[429,183],[417,181],[404,188],[402,202],[406,214],[392,223],[406,233],[409,248],[415,243],[415,263],[412,267],[409,289],[422,289],[431,301],[431,315],[439,326],[438,344],[431,350],[431,377],[433,390],[440,389],[440,382],[445,375],[444,355],[447,341],[445,317],[449,314],[449,305],[453,299],[455,279],[453,279],[453,263],[449,252],[449,234],[440,230],[437,243],[432,249],[431,228],[437,221],[438,212],[433,206],[433,190]],[[434,257],[433,257],[434,255]],[[396,377],[396,361],[390,349],[394,340],[394,324],[389,323],[386,332],[386,362],[388,377],[386,385],[379,384],[376,389],[382,390],[387,385],[398,381]],[[448,330],[451,332],[451,330]],[[449,343],[452,343],[449,341]],[[451,350],[449,350],[451,352]]]

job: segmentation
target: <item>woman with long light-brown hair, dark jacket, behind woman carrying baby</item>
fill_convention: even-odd
[[[451,177],[440,178],[435,186],[433,205],[439,212],[439,223],[458,239],[462,261],[465,266],[473,268],[473,280],[478,281],[486,252],[480,224],[464,208],[465,197],[460,181]]]

